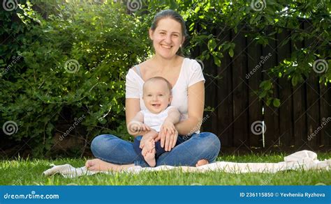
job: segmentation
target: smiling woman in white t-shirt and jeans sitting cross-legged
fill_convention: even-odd
[[[221,143],[215,134],[200,133],[205,104],[205,79],[200,65],[189,58],[179,56],[185,40],[186,28],[181,15],[174,10],[157,13],[149,29],[155,54],[147,61],[131,68],[126,75],[126,123],[140,109],[146,109],[142,101],[142,84],[151,77],[161,76],[172,85],[171,105],[181,113],[175,125],[177,132],[170,134],[154,130],[136,132],[141,140],[161,141],[165,153],[156,160],[156,166],[201,166],[214,162]],[[128,127],[130,129],[130,127]],[[129,131],[129,132],[132,132]],[[193,133],[193,134],[192,134]],[[120,171],[131,166],[148,166],[133,150],[133,143],[117,136],[103,134],[91,143],[91,151],[98,159],[85,164],[91,171]]]

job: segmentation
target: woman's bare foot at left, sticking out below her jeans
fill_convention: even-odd
[[[85,163],[85,166],[87,169],[89,169],[89,171],[121,171],[134,165],[135,164],[112,164],[101,159],[89,159]]]

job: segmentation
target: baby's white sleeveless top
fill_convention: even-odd
[[[165,118],[168,117],[168,112],[170,109],[174,107],[169,106],[160,113],[152,113],[149,109],[141,110],[140,113],[144,115],[144,123],[148,125],[148,127],[154,129],[156,132],[160,132],[161,125],[163,124]]]

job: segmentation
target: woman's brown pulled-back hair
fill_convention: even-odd
[[[159,21],[161,19],[165,19],[165,18],[171,18],[171,19],[174,19],[175,21],[179,22],[179,24],[182,26],[182,36],[183,37],[188,36],[187,31],[186,31],[185,21],[184,21],[182,15],[177,13],[177,11],[171,10],[171,9],[161,10],[159,13],[156,13],[156,15],[154,16],[153,22],[152,22],[152,26],[151,26],[152,31],[155,31],[156,27],[158,26]],[[177,54],[183,56],[182,47],[180,47],[178,49]]]

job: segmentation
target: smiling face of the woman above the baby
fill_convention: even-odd
[[[159,20],[156,29],[149,29],[149,38],[153,40],[156,54],[163,58],[172,58],[184,42],[182,25],[171,18]]]

